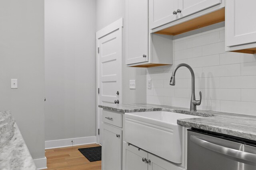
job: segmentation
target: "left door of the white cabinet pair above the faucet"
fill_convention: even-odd
[[[149,28],[153,29],[177,20],[173,14],[178,9],[178,0],[149,0]]]

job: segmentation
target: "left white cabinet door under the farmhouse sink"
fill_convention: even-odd
[[[126,170],[148,170],[148,164],[146,161],[142,161],[148,157],[148,153],[144,150],[138,150],[138,148],[126,143],[125,149],[125,168]]]

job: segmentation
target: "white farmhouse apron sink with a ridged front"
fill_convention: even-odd
[[[182,163],[182,126],[177,119],[198,116],[168,111],[125,113],[126,142],[174,163]]]

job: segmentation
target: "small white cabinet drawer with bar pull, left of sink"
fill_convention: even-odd
[[[102,121],[117,127],[123,127],[122,114],[110,111],[102,111]]]

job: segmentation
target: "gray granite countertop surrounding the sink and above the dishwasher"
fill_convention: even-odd
[[[222,133],[256,141],[256,116],[225,113],[217,111],[190,111],[187,108],[162,106],[154,104],[119,104],[99,105],[103,109],[120,113],[142,111],[170,111],[189,115],[201,116],[191,119],[178,119],[177,123],[186,127],[194,127],[206,131]]]

